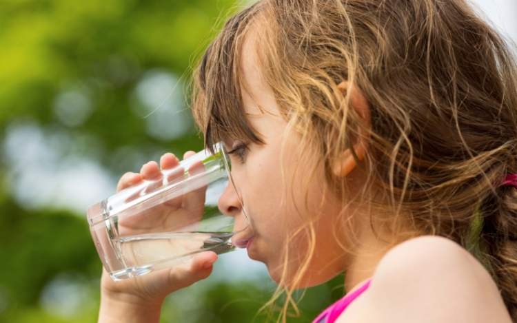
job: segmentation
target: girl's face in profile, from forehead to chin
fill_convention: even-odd
[[[310,231],[303,228],[312,227],[316,240],[314,254],[298,287],[320,284],[345,267],[343,249],[335,238],[341,202],[329,193],[328,187],[325,190],[323,162],[303,158],[305,154],[314,156],[316,152],[300,147],[300,134],[286,131],[287,123],[279,113],[272,90],[263,81],[250,41],[245,43],[242,56],[247,84],[242,92],[245,113],[265,145],[225,140],[226,149],[231,153],[232,178],[237,192],[233,187],[227,188],[219,208],[236,217],[236,229],[243,229],[246,221],[240,196],[252,228],[235,236],[234,244],[247,247],[250,258],[264,262],[276,282],[285,270],[286,284],[289,284],[303,265],[311,252],[307,241]],[[302,162],[298,163],[299,160]],[[313,161],[307,163],[307,160]],[[307,181],[314,169],[312,180]],[[321,205],[323,198],[325,203]]]

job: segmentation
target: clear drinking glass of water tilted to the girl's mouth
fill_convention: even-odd
[[[234,218],[218,201],[235,189],[223,145],[203,150],[88,208],[95,247],[113,280],[136,277],[190,261],[201,251],[234,249]],[[249,222],[248,222],[249,225]]]

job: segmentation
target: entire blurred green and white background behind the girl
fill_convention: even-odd
[[[101,262],[85,209],[126,171],[203,147],[192,68],[245,0],[0,0],[0,322],[96,322]],[[517,1],[476,0],[517,39]],[[310,320],[343,276],[309,289]],[[244,251],[174,293],[161,322],[263,322],[276,285]]]

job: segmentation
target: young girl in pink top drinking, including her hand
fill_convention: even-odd
[[[517,67],[463,0],[261,0],[193,92],[207,147],[231,152],[219,208],[239,227],[243,201],[240,247],[287,300],[345,271],[348,294],[314,322],[517,322]],[[99,322],[159,322],[216,258],[104,273]]]

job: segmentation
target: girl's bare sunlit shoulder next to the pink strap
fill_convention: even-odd
[[[379,322],[511,323],[482,264],[452,240],[435,236],[390,250],[378,264],[368,299]]]

